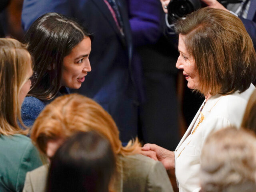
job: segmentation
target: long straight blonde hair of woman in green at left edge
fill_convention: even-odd
[[[27,46],[17,40],[0,38],[0,134],[27,134],[20,129],[22,123],[19,93],[32,68]],[[25,126],[24,126],[25,127]]]

